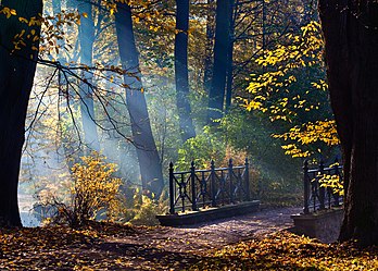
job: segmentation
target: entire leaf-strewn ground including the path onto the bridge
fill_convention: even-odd
[[[337,259],[339,269],[330,270],[377,270],[375,247],[325,245],[282,231],[299,211],[266,209],[191,227],[92,223],[83,230],[1,230],[0,269],[327,270]]]

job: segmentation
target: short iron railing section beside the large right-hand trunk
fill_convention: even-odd
[[[333,185],[330,185],[329,182],[327,183],[327,180],[332,178]],[[335,182],[338,183],[335,184]],[[342,187],[342,165],[339,164],[337,159],[335,163],[328,168],[320,161],[316,169],[308,169],[308,161],[305,160],[303,164],[303,213],[341,206],[342,197],[340,196],[340,187]]]

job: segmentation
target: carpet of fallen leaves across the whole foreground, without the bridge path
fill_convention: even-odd
[[[146,234],[149,237],[143,237]],[[152,235],[151,235],[152,234]],[[148,245],[130,242],[150,238]],[[165,242],[165,243],[164,243]],[[66,227],[2,230],[1,270],[377,270],[377,247],[322,244],[288,232],[220,249],[182,249],[182,236],[162,241],[159,227],[91,223]],[[162,245],[165,244],[165,245]]]

